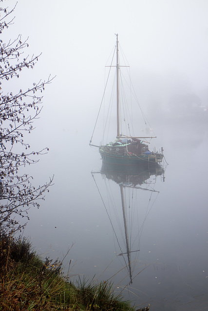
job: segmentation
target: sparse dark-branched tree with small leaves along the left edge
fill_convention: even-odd
[[[3,2],[3,0],[0,0]],[[13,24],[15,8],[0,8],[0,35]],[[27,39],[21,35],[3,42],[0,39],[0,230],[21,229],[19,217],[27,217],[31,206],[39,207],[38,199],[44,199],[52,183],[50,178],[38,188],[32,186],[32,176],[25,173],[27,165],[37,162],[37,155],[47,153],[48,148],[31,152],[23,134],[33,130],[33,121],[41,111],[42,91],[51,82],[39,81],[29,88],[22,85],[18,92],[8,90],[8,81],[18,79],[24,69],[33,69],[38,56],[24,57]],[[11,84],[10,84],[11,86]]]

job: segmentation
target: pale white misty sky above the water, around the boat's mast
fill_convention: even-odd
[[[15,3],[3,2],[10,8]],[[3,37],[29,36],[25,54],[42,55],[11,88],[56,75],[44,92],[34,149],[46,140],[49,147],[56,139],[63,144],[76,133],[89,143],[115,33],[144,110],[154,102],[166,106],[178,93],[196,94],[207,105],[207,0],[19,0],[14,25]]]

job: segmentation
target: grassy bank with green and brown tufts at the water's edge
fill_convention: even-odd
[[[60,262],[39,259],[26,239],[1,236],[0,311],[135,310],[112,284],[79,280],[75,286],[60,272]]]

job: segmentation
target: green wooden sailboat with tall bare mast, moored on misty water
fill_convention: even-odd
[[[118,43],[118,34],[116,34],[116,45],[113,53],[113,59],[114,55],[116,55],[116,64],[113,66],[113,60],[111,63],[110,70],[112,67],[116,68],[116,124],[117,124],[117,133],[116,137],[113,141],[109,143],[100,143],[100,145],[95,145],[92,143],[92,138],[90,140],[90,146],[95,146],[99,148],[99,153],[102,157],[103,163],[106,164],[112,164],[112,165],[128,165],[128,166],[135,166],[140,164],[148,164],[151,163],[161,163],[163,160],[163,147],[160,148],[159,151],[156,151],[155,148],[149,147],[151,138],[156,138],[156,136],[134,136],[134,135],[125,135],[122,134],[121,130],[121,103],[120,103],[120,97],[121,97],[121,87],[123,85],[121,81],[121,67],[128,67],[128,66],[121,66],[119,64],[119,43]],[[108,82],[108,81],[107,81]],[[106,90],[106,87],[105,87]],[[104,91],[105,94],[105,91]],[[103,96],[104,98],[104,96]],[[102,103],[101,103],[102,104]],[[100,112],[100,109],[99,109]],[[98,113],[99,116],[99,113]],[[125,117],[123,118],[125,120]],[[97,117],[98,120],[98,117]],[[96,123],[97,123],[96,120]],[[96,126],[95,123],[95,126]],[[127,128],[129,128],[129,123]]]

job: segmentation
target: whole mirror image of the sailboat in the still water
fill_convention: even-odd
[[[101,194],[95,173],[101,174],[106,193]],[[113,228],[116,256],[123,258],[130,277],[129,284],[132,284],[135,277],[133,271],[136,270],[139,260],[143,226],[159,194],[154,185],[158,177],[162,182],[165,181],[164,169],[160,165],[135,166],[127,169],[126,166],[109,166],[103,163],[100,172],[92,172],[92,175]],[[118,185],[117,192],[115,183]],[[148,198],[147,195],[141,195],[142,190],[148,191]],[[152,195],[155,197],[152,198]]]

